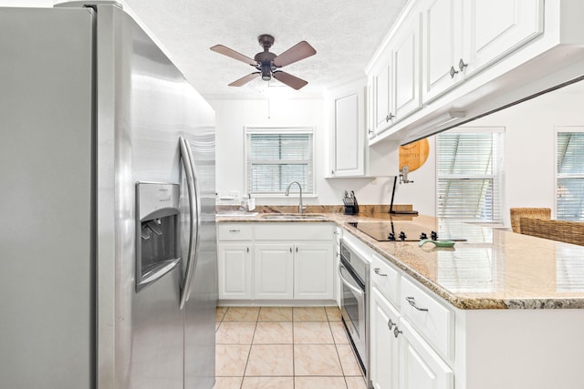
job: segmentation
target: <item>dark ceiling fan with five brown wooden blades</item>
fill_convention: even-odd
[[[241,87],[249,81],[253,80],[255,77],[259,77],[260,75],[264,81],[269,81],[272,79],[272,77],[274,77],[276,80],[286,84],[288,87],[293,87],[294,89],[300,89],[301,87],[304,87],[308,84],[308,81],[279,70],[280,67],[285,67],[299,61],[300,59],[317,54],[317,50],[308,45],[307,41],[297,43],[295,46],[288,48],[279,56],[276,56],[276,54],[270,53],[269,51],[270,47],[274,45],[274,36],[264,34],[258,36],[257,41],[259,42],[259,46],[264,47],[264,51],[257,53],[254,56],[254,59],[250,58],[249,56],[244,56],[243,54],[237,53],[235,50],[232,50],[231,48],[223,45],[216,45],[211,47],[211,50],[216,53],[223,54],[224,56],[230,56],[234,59],[237,59],[238,61],[245,62],[246,64],[251,65],[258,70],[245,77],[241,77],[238,80],[235,80],[229,84],[229,87]]]

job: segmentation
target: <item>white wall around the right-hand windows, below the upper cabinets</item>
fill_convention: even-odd
[[[502,126],[505,135],[504,216],[509,225],[509,208],[556,208],[556,127],[584,126],[583,87],[558,89],[509,107],[467,126]],[[430,157],[412,172],[414,184],[402,185],[399,200],[411,200],[416,210],[435,215],[435,136],[430,138]],[[584,161],[582,162],[584,163]]]

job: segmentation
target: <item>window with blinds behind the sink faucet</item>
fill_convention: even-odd
[[[314,194],[312,128],[245,128],[245,133],[247,192],[280,195],[297,181],[303,195]]]

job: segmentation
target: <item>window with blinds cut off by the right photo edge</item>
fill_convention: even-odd
[[[558,128],[556,144],[556,217],[584,220],[584,127]]]

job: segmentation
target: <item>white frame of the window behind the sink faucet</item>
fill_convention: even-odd
[[[316,149],[316,133],[314,126],[245,126],[244,127],[244,170],[245,170],[245,193],[249,193],[253,195],[255,198],[284,198],[284,190],[281,192],[257,192],[252,191],[250,187],[249,180],[249,166],[250,163],[249,159],[249,148],[250,148],[250,135],[252,134],[274,134],[274,135],[301,135],[301,134],[308,134],[310,136],[310,143],[311,143],[311,159],[312,159],[312,172],[309,173],[309,176],[312,177],[311,185],[312,185],[312,192],[308,192],[306,188],[302,188],[302,197],[303,198],[317,198],[317,180],[316,180],[316,166],[317,166],[317,149]],[[290,196],[296,197],[297,196],[297,186],[293,186],[290,189]]]

